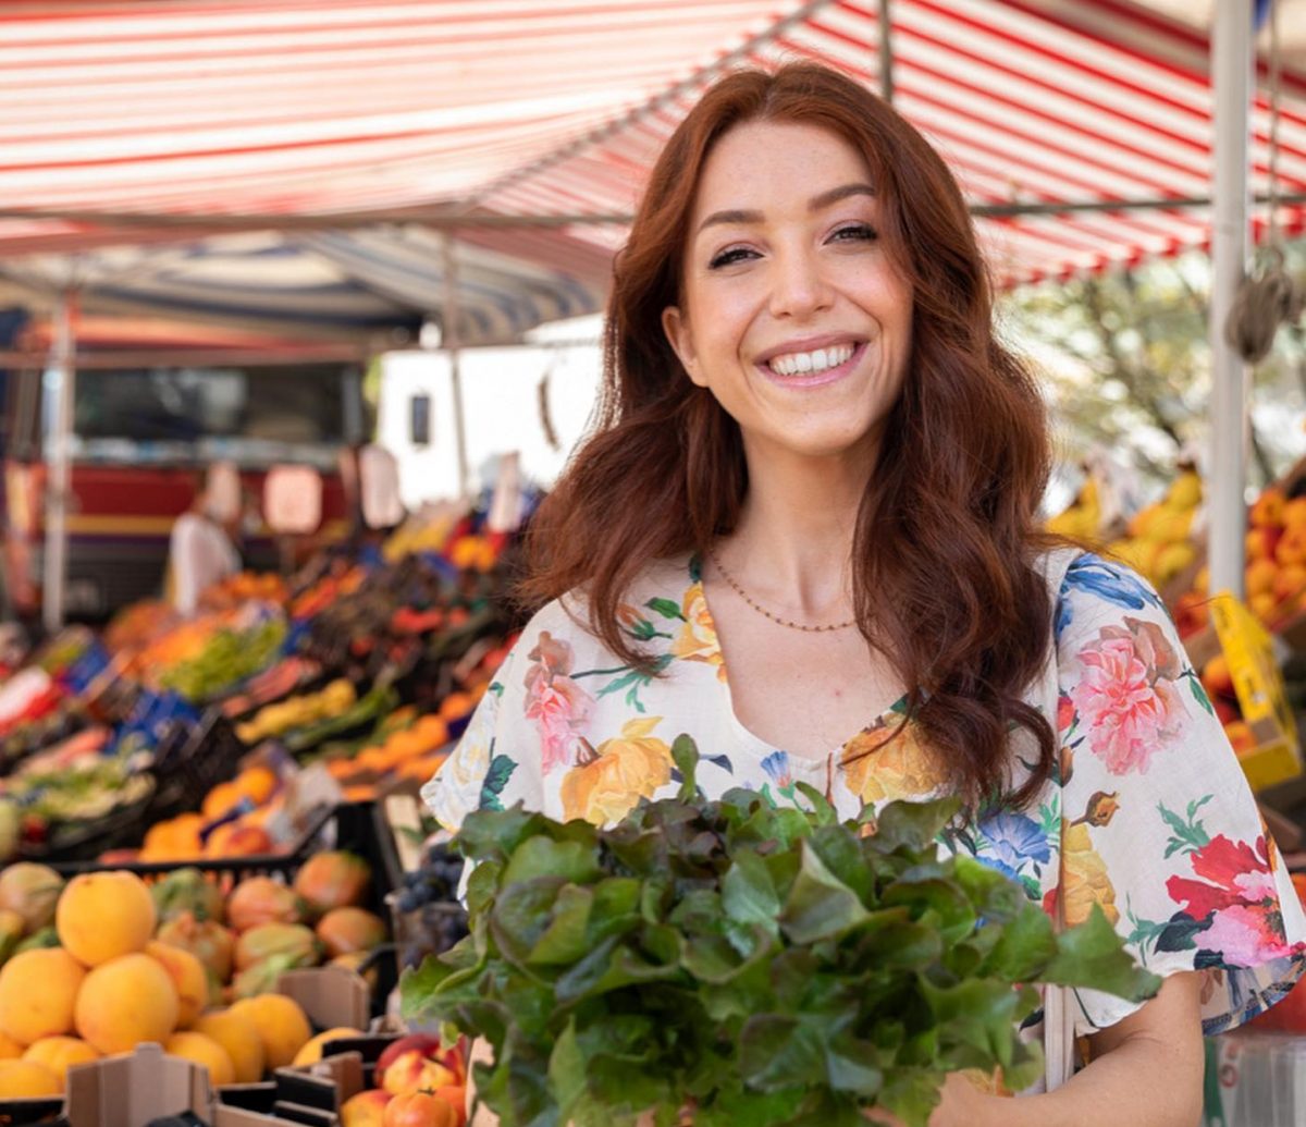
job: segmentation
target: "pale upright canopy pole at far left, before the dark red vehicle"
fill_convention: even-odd
[[[68,583],[68,509],[72,501],[73,397],[77,294],[65,290],[55,312],[55,340],[50,371],[55,377],[55,413],[50,441],[50,479],[46,488],[46,552],[42,574],[40,614],[46,631],[64,625]]]

